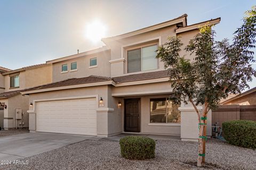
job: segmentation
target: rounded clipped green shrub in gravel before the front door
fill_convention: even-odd
[[[149,159],[155,157],[156,142],[145,137],[124,137],[119,141],[121,155],[126,159]]]

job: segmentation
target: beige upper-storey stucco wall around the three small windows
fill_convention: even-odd
[[[97,57],[98,67],[90,67],[90,59]],[[105,50],[100,53],[85,55],[82,57],[73,58],[70,60],[53,63],[52,80],[53,82],[66,80],[70,78],[83,78],[89,75],[100,75],[104,77],[110,77],[110,50]],[[70,72],[70,64],[77,62],[77,71]],[[68,72],[61,73],[61,66],[68,64]]]

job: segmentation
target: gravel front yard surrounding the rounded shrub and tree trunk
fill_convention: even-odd
[[[215,140],[207,141],[205,168],[190,165],[196,162],[196,142],[158,140],[156,158],[149,160],[126,160],[119,149],[115,141],[85,140],[23,159],[28,165],[0,169],[256,169],[255,150]]]

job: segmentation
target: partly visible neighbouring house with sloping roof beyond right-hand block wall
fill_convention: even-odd
[[[256,87],[222,101],[221,105],[256,105]]]

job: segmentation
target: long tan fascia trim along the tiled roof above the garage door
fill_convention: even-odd
[[[35,93],[38,93],[38,92],[45,92],[45,91],[55,91],[55,90],[74,89],[74,88],[82,88],[82,87],[102,86],[102,85],[108,85],[108,84],[115,85],[115,82],[110,80],[110,81],[95,82],[95,83],[77,84],[77,85],[71,85],[71,86],[61,86],[61,87],[54,87],[54,88],[47,88],[47,89],[23,91],[23,92],[21,92],[21,94],[22,95],[28,95],[28,94],[35,94]]]

